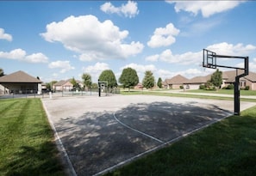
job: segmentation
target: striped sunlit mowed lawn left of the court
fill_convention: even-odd
[[[66,175],[40,99],[0,100],[0,175]]]

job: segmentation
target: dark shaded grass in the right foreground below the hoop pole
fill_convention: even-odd
[[[106,175],[256,175],[256,106]]]

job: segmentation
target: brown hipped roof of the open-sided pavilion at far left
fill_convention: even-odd
[[[19,70],[12,74],[1,76],[0,83],[41,83],[41,81]]]

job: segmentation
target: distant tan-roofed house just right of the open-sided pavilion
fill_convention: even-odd
[[[80,82],[78,80],[76,80],[76,82],[79,84],[80,88],[84,88],[83,82]],[[53,84],[54,91],[72,91],[72,89],[73,89],[72,79],[69,79],[66,81],[61,80]]]

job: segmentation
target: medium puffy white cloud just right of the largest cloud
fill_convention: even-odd
[[[171,46],[176,39],[174,36],[178,35],[178,28],[174,27],[172,23],[166,25],[166,27],[156,28],[153,32],[153,36],[147,42],[147,46],[152,48],[161,46]]]

